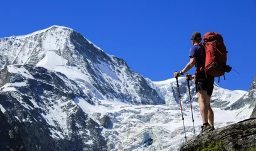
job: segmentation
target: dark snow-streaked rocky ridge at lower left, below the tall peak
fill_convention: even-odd
[[[102,127],[74,103],[91,103],[74,81],[34,65],[8,70],[20,73],[1,73],[9,75],[0,92],[1,150],[107,150]]]

